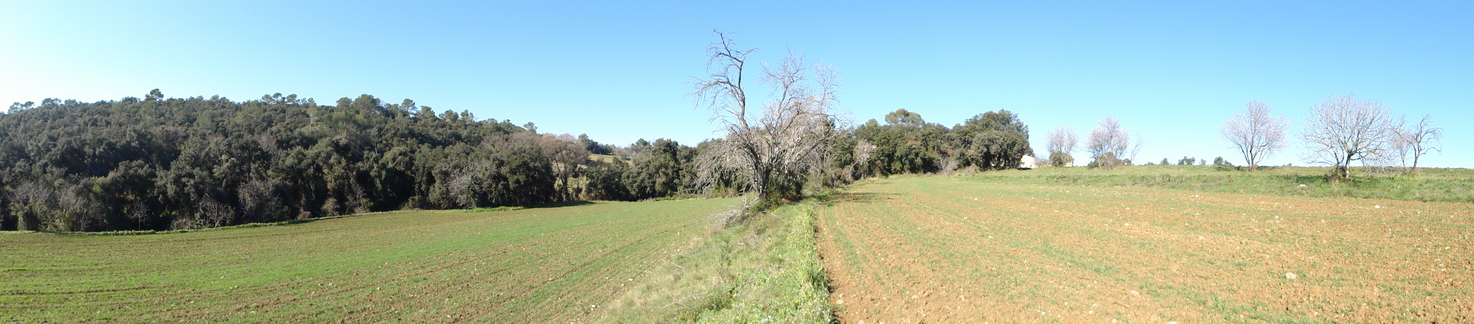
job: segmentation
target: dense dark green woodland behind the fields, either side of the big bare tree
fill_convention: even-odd
[[[828,166],[809,177],[812,187],[1014,168],[1033,153],[1029,128],[1007,110],[952,128],[905,109],[831,127]],[[335,105],[295,94],[167,99],[158,90],[96,103],[47,99],[0,113],[0,228],[180,230],[744,191],[736,180],[696,186],[694,161],[713,141],[616,147],[368,94]]]

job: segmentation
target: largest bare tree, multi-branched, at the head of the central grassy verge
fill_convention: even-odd
[[[736,172],[756,191],[759,208],[802,194],[809,172],[822,168],[825,143],[834,134],[828,110],[837,102],[836,72],[814,66],[817,78],[809,80],[809,68],[792,53],[777,69],[764,66],[762,81],[775,97],[756,115],[743,84],[747,54],[755,49],[740,50],[727,34],[713,32],[721,40],[706,50],[708,71],[713,72],[696,80],[694,96],[699,106],[715,112],[727,140],[702,152],[697,181],[710,184],[722,172]]]

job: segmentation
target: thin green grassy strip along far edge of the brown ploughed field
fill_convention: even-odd
[[[1353,172],[1330,183],[1328,168],[1276,166],[1235,171],[1215,166],[1122,166],[1116,169],[1038,168],[961,175],[986,183],[1163,187],[1219,193],[1310,197],[1372,197],[1418,202],[1474,202],[1474,169],[1418,169],[1417,174]]]

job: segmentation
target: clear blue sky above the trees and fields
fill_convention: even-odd
[[[905,4],[901,4],[905,3]],[[1352,93],[1433,115],[1474,166],[1471,1],[0,1],[0,103],[373,94],[629,144],[718,137],[696,109],[712,29],[833,65],[852,122],[905,108],[958,124],[1008,109],[1083,137],[1114,116],[1136,161],[1241,158],[1219,125],[1262,100],[1291,119],[1266,163],[1304,165],[1310,106]],[[1085,153],[1076,153],[1083,161]]]

